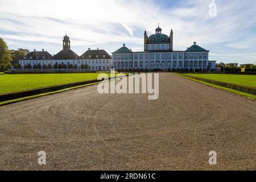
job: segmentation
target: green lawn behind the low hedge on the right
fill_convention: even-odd
[[[183,74],[210,80],[228,82],[235,85],[256,88],[256,75],[228,75],[228,74]]]

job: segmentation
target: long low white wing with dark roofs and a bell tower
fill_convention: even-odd
[[[111,65],[110,55],[103,49],[91,50],[77,55],[71,50],[71,42],[67,35],[63,38],[63,49],[52,56],[47,51],[36,51],[28,53],[27,56],[19,60],[22,68],[26,69],[27,65],[31,66],[32,70],[43,68],[51,68],[53,70],[63,71],[110,71]]]

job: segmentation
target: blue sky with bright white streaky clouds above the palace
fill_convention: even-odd
[[[143,50],[143,34],[174,30],[174,49],[193,42],[210,50],[209,59],[255,63],[256,1],[215,0],[217,16],[208,16],[213,0],[0,0],[0,37],[9,48],[62,49],[65,32],[78,55],[88,48],[111,53],[123,43]]]

